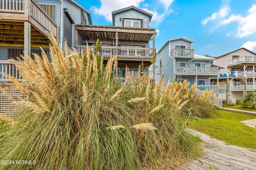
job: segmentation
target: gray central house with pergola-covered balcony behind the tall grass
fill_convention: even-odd
[[[87,41],[92,51],[96,40],[102,41],[99,54],[102,55],[104,63],[110,59],[111,54],[116,55],[118,62],[116,75],[122,79],[126,78],[127,66],[136,77],[139,65],[143,63],[147,68],[154,63],[156,57],[156,30],[149,27],[151,18],[152,14],[135,6],[129,6],[112,12],[113,26],[76,24],[76,35],[81,35],[84,43]],[[149,47],[151,40],[152,47]],[[76,44],[78,52],[84,47]]]

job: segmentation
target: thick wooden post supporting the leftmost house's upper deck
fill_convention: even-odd
[[[24,14],[30,16],[30,0],[24,0]],[[24,52],[31,55],[31,24],[28,21],[24,21]]]

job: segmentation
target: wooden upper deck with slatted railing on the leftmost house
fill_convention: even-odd
[[[31,45],[48,45],[48,33],[58,38],[58,24],[36,0],[1,0],[1,44],[24,44],[25,22],[31,23]]]

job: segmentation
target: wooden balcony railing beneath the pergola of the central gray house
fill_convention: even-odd
[[[94,52],[93,46],[89,46],[91,51]],[[85,45],[76,45],[76,50],[81,54],[82,50],[85,53]],[[110,57],[110,55],[117,55],[119,58],[138,58],[138,59],[153,59],[156,55],[155,48],[147,47],[115,47],[115,46],[102,46],[99,55],[102,57]]]

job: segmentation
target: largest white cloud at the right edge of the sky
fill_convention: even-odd
[[[236,32],[236,37],[247,37],[256,32],[256,4],[252,4],[252,7],[248,10],[248,15],[242,17],[241,15],[232,14],[228,19],[221,22],[222,25],[226,25],[233,21],[238,21],[239,25]]]

